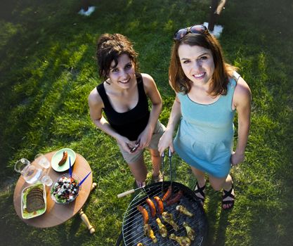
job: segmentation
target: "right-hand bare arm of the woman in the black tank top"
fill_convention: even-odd
[[[157,119],[159,119],[159,114],[162,111],[162,98],[159,94],[159,91],[157,90],[154,79],[152,79],[152,77],[147,74],[142,74],[142,76],[145,93],[150,98],[152,108],[150,110],[150,118],[148,119],[148,124],[143,132],[138,136],[137,141],[140,141],[139,148],[145,148],[149,145],[152,138],[152,133],[154,132],[155,126],[157,124]]]

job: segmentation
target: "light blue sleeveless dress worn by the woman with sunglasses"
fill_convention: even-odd
[[[239,77],[235,72],[235,78]],[[195,103],[187,94],[177,93],[182,117],[174,139],[176,153],[191,166],[217,178],[226,177],[231,167],[235,86],[236,80],[230,78],[227,95],[207,105]]]

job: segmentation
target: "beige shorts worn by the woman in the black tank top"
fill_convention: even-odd
[[[150,144],[148,145],[147,148],[157,150],[159,138],[161,138],[161,136],[164,134],[165,129],[166,127],[164,127],[164,125],[161,122],[157,121],[155,130],[152,133],[152,139],[150,140]],[[122,146],[119,145],[119,143],[118,143],[118,146],[127,164],[136,162],[143,155],[143,152],[144,152],[144,149],[143,149],[143,150],[137,150],[135,153],[129,154],[125,150],[123,150]]]

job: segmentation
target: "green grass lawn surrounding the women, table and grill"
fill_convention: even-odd
[[[98,78],[96,39],[118,32],[134,41],[141,72],[157,82],[167,124],[174,92],[168,84],[172,35],[207,22],[209,0],[2,0],[0,3],[0,242],[1,245],[115,245],[134,179],[115,141],[89,118],[87,96]],[[226,59],[252,90],[246,160],[233,168],[235,207],[221,211],[221,193],[207,187],[207,245],[292,245],[293,242],[293,4],[291,0],[227,1],[218,24]],[[235,125],[237,127],[237,124]],[[79,216],[55,228],[27,226],[15,213],[16,160],[72,148],[88,160],[98,187],[84,207],[96,233]],[[178,156],[176,181],[195,184]],[[145,155],[149,170],[149,155]],[[166,167],[167,171],[167,167]],[[150,173],[148,181],[150,181]],[[167,176],[166,179],[169,179]]]

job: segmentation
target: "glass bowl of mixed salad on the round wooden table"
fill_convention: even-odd
[[[69,174],[59,176],[51,187],[51,198],[58,204],[73,202],[79,194],[79,178]]]

